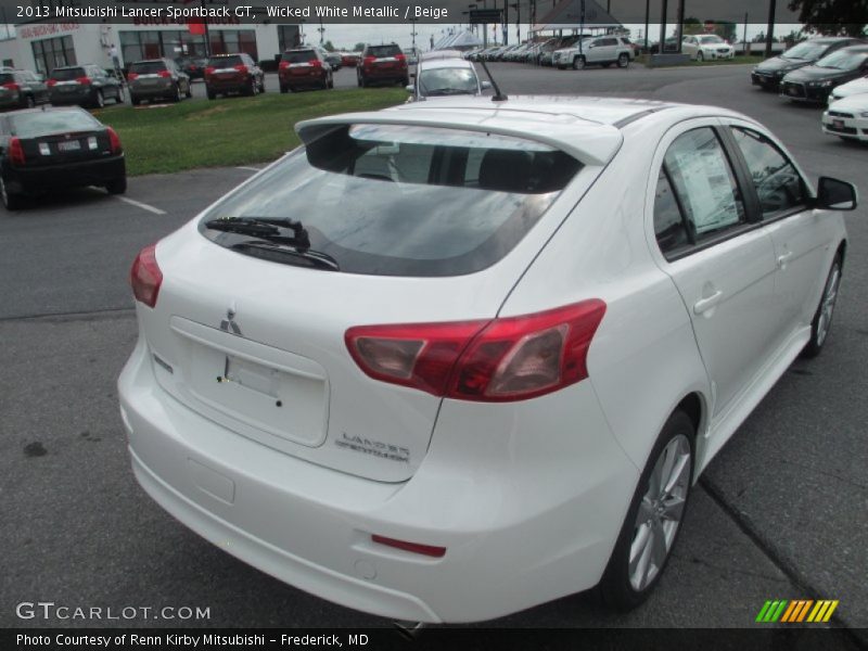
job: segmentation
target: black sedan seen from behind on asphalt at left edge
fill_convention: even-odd
[[[114,129],[77,106],[0,115],[0,197],[7,209],[18,208],[23,194],[84,186],[126,192],[124,149]]]

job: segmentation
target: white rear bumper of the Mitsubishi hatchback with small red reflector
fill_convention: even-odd
[[[390,484],[204,419],[158,386],[152,363],[140,340],[118,381],[145,492],[251,565],[386,617],[489,620],[592,587],[638,477],[589,382],[518,409],[489,405],[484,416],[480,405],[446,401],[413,477]],[[556,421],[560,432],[540,425]],[[419,556],[374,544],[372,534],[447,551]]]

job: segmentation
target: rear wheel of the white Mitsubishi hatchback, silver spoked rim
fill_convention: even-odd
[[[660,436],[658,436],[654,447],[651,449],[648,462],[639,477],[639,483],[630,501],[630,508],[627,510],[627,516],[624,520],[617,542],[609,560],[609,565],[603,573],[602,580],[600,580],[600,596],[610,608],[621,611],[631,610],[648,599],[663,574],[666,561],[672,557],[672,550],[678,541],[678,534],[682,528],[681,524],[690,499],[695,458],[694,436],[695,427],[693,421],[687,413],[678,410],[669,416],[666,424],[663,425]],[[672,457],[672,455],[677,456]],[[686,461],[684,460],[685,455],[689,455]],[[669,507],[664,509],[665,500],[651,500],[649,499],[649,494],[654,495],[658,493],[651,485],[651,476],[655,474],[658,465],[660,465],[661,471],[666,468],[667,456],[675,459],[675,464],[672,467],[673,476],[678,476],[678,481],[674,484],[671,493],[675,494],[677,492],[680,495],[677,498],[671,495]],[[681,463],[682,461],[684,464]],[[684,467],[685,464],[687,468]],[[679,469],[680,472],[676,472]],[[665,475],[663,478],[668,480],[668,473],[663,474]],[[643,509],[641,516],[639,515],[640,507]],[[663,514],[668,513],[671,510],[678,511],[677,524],[671,519],[663,518]],[[647,523],[644,522],[646,515],[649,516]],[[638,522],[640,519],[643,521],[641,524]],[[665,528],[671,524],[674,524],[674,527]],[[640,541],[641,539],[646,540],[644,545]],[[662,549],[654,545],[654,541],[658,540],[662,540]],[[634,549],[637,545],[639,549]],[[658,551],[660,553],[656,553]],[[631,576],[630,572],[630,556],[633,554],[638,557],[635,569],[640,575],[638,582],[640,585],[638,587],[634,583],[636,577],[635,575]],[[656,558],[652,558],[654,556]],[[644,564],[642,564],[643,558],[646,560]]]

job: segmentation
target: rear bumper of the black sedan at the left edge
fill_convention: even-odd
[[[124,154],[97,161],[82,161],[42,167],[10,167],[7,186],[12,192],[40,192],[60,188],[104,186],[127,174]]]

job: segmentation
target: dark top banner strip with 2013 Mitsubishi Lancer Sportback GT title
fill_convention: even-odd
[[[519,11],[515,11],[515,4]],[[297,23],[435,23],[471,22],[471,14],[535,16],[537,25],[575,26],[677,22],[676,0],[0,0],[0,22],[33,23],[136,23],[159,25],[183,22],[225,24]],[[777,22],[795,23],[797,14],[786,0],[777,2]],[[763,24],[767,3],[756,0],[685,0],[685,16],[702,22]],[[746,18],[746,21],[745,21]],[[499,17],[493,17],[499,21]],[[477,22],[477,21],[474,21]]]

